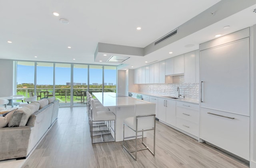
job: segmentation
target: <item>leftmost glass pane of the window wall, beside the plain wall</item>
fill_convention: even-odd
[[[26,97],[34,94],[35,63],[17,61],[17,94]]]

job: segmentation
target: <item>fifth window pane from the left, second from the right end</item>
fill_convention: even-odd
[[[102,65],[90,65],[89,92],[102,92]]]

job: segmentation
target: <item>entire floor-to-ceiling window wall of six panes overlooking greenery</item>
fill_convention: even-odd
[[[86,91],[116,92],[116,66],[16,62],[17,94],[55,96],[60,106],[86,104]],[[104,74],[104,75],[103,75]],[[89,89],[90,88],[90,89]]]

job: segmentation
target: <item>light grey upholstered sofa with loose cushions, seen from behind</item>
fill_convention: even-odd
[[[59,100],[42,99],[24,107],[15,109],[8,125],[0,128],[0,160],[22,159],[28,156],[55,123]]]

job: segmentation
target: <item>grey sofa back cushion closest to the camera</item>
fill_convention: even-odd
[[[39,107],[39,102],[32,102],[28,105],[25,105],[24,107],[17,109],[11,117],[8,123],[8,127],[25,126],[30,115],[36,112]]]

